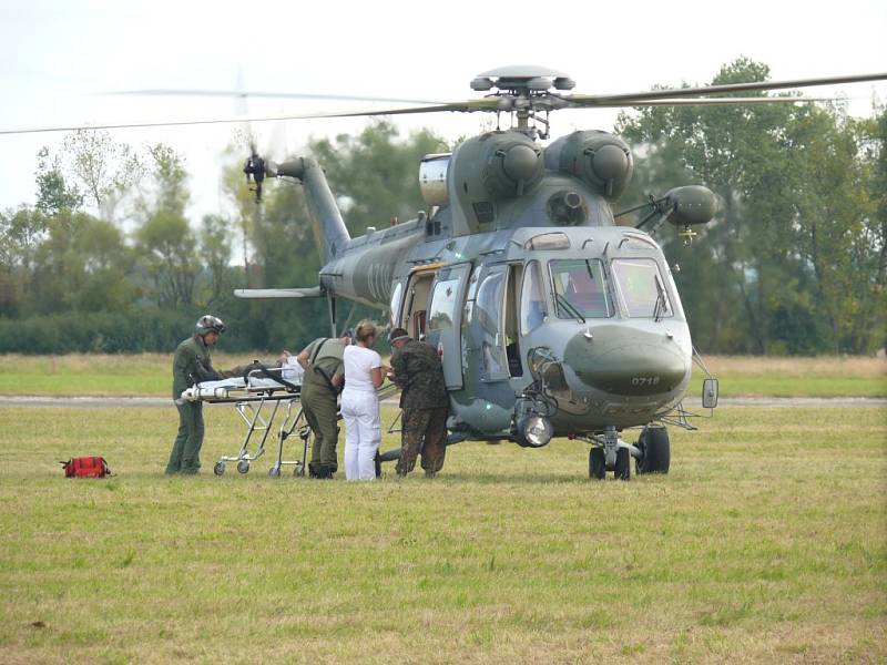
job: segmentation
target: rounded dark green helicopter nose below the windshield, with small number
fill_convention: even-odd
[[[591,340],[585,334],[571,339],[564,362],[587,386],[626,397],[674,390],[690,370],[664,337],[600,328]]]

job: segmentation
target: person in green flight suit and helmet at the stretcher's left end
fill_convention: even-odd
[[[203,405],[182,399],[182,392],[200,381],[220,379],[213,367],[210,348],[225,331],[225,324],[215,316],[202,316],[194,335],[182,341],[173,356],[173,400],[179,409],[179,433],[170,453],[166,473],[194,474],[201,469],[203,446]]]

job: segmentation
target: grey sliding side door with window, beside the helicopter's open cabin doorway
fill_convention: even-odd
[[[450,390],[462,387],[461,315],[470,268],[470,264],[440,268],[428,306],[426,341],[441,354],[443,379]]]

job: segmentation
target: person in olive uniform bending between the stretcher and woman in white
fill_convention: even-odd
[[[319,337],[296,356],[305,370],[302,378],[302,408],[314,432],[309,478],[333,478],[338,470],[336,446],[339,430],[336,399],[344,383],[341,357],[349,337]]]

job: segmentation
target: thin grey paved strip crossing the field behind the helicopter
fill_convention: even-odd
[[[397,406],[398,398],[383,400],[386,406]],[[220,405],[210,405],[220,406]],[[222,405],[224,406],[224,405]],[[722,397],[718,408],[815,408],[815,407],[876,407],[886,408],[885,397]],[[64,407],[82,409],[100,408],[166,408],[173,407],[169,397],[27,397],[0,396],[2,407]],[[700,409],[699,398],[684,400],[687,409]]]

